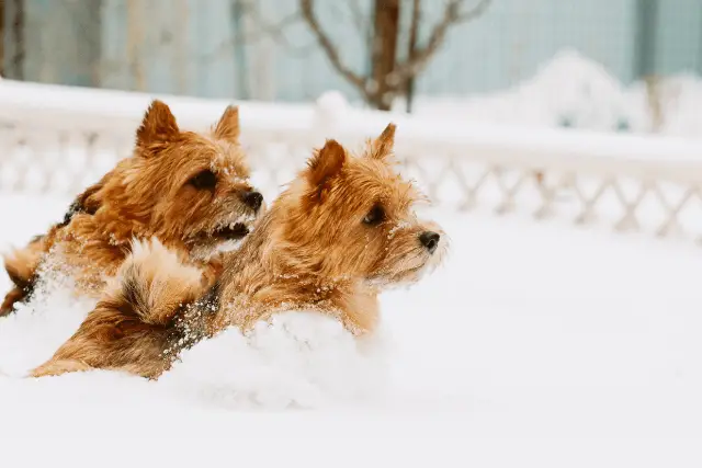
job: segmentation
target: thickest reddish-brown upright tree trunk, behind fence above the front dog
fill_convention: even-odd
[[[381,111],[390,110],[399,84],[393,75],[398,36],[399,0],[375,0],[369,103]]]

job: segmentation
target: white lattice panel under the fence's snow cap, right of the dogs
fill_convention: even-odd
[[[444,158],[437,174],[416,159],[406,161],[434,201],[458,210],[490,207],[534,219],[568,217],[576,225],[603,221],[618,231],[645,230],[660,237],[692,235],[702,241],[702,192],[695,181],[636,179],[612,173],[514,169]]]

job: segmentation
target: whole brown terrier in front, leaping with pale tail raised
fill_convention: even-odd
[[[32,375],[106,368],[156,378],[197,341],[287,310],[331,315],[355,335],[373,331],[377,294],[416,282],[445,250],[439,228],[411,210],[419,194],[393,171],[394,133],[390,124],[363,157],[327,141],[210,288],[158,242],[136,244],[76,334]]]

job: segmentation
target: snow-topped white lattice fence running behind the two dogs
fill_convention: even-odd
[[[212,125],[228,101],[0,81],[0,189],[76,193],[131,153],[154,98],[184,128]],[[315,104],[241,102],[242,139],[268,197],[326,138],[360,147],[397,123],[403,170],[440,205],[531,208],[536,218],[611,219],[618,229],[702,235],[702,142],[574,129],[477,126],[441,115]]]

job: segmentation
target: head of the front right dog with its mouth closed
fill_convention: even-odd
[[[309,159],[271,213],[280,226],[272,241],[288,264],[383,287],[412,283],[440,262],[445,236],[417,218],[412,207],[424,198],[394,170],[394,136],[390,124],[360,157],[328,140]]]

